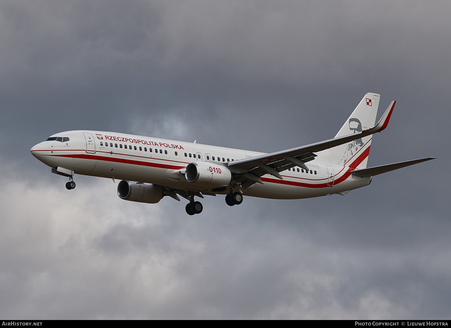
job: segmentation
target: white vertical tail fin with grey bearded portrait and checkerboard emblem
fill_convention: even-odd
[[[359,105],[355,107],[335,138],[372,128],[376,122],[380,97],[380,94],[368,92],[359,102]],[[321,160],[326,162],[351,166],[353,169],[363,169],[367,165],[372,138],[373,136],[369,135],[362,139],[354,140],[349,144],[327,149],[318,153],[318,157],[321,157]]]

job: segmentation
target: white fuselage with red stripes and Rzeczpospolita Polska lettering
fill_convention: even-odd
[[[212,187],[194,185],[185,179],[180,170],[191,162],[227,166],[227,162],[263,154],[104,131],[67,131],[54,136],[67,137],[69,141],[44,141],[31,149],[35,157],[53,168],[63,167],[81,175],[152,183],[210,194],[227,194],[229,189],[212,191]],[[256,183],[244,189],[243,193],[270,199],[302,199],[363,187],[369,185],[371,177],[353,176],[350,171],[368,156],[368,152],[369,144],[347,161],[347,166],[319,160],[306,162],[308,172],[300,167],[281,171],[283,180],[267,174],[260,178],[263,184]]]

